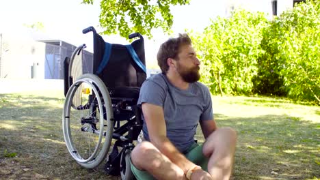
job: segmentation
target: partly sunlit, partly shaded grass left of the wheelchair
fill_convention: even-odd
[[[3,179],[120,179],[103,162],[82,168],[66,149],[63,98],[0,94],[0,177]],[[16,153],[16,157],[8,154]]]

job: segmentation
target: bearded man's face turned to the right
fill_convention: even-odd
[[[176,70],[185,82],[196,82],[200,79],[200,61],[191,45],[184,45],[180,48],[178,60],[176,61]]]

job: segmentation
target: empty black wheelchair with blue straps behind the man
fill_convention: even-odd
[[[129,45],[109,44],[94,27],[83,29],[84,34],[89,32],[94,40],[92,67],[82,65],[85,44],[64,60],[66,147],[84,168],[95,168],[107,159],[108,175],[134,179],[130,153],[143,124],[137,100],[146,80],[144,38],[133,33],[129,38],[137,40]]]

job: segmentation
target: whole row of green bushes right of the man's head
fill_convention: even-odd
[[[273,20],[235,10],[191,39],[202,82],[213,94],[284,95],[320,103],[320,3],[306,1]]]

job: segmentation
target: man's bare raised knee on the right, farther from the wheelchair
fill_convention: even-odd
[[[237,142],[237,132],[231,127],[221,127],[204,142],[202,153],[209,157],[215,149],[219,148],[232,148],[235,147]]]

